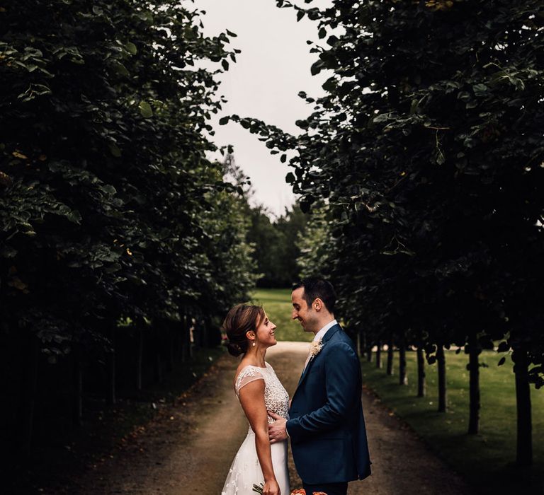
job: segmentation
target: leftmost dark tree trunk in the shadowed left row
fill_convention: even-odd
[[[40,363],[40,342],[32,335],[26,353],[26,366],[23,380],[23,397],[21,402],[21,458],[26,459],[30,455],[32,448],[34,410],[36,402],[36,389],[38,386],[38,367]]]

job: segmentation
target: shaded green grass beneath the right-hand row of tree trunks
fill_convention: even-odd
[[[521,493],[544,493],[544,391],[531,390],[534,463],[522,469],[515,465],[516,395],[511,366],[497,367],[500,356],[494,351],[482,353],[480,362],[489,367],[480,368],[480,434],[469,436],[467,356],[453,351],[446,354],[448,412],[444,414],[436,412],[436,366],[426,366],[427,396],[417,398],[416,356],[415,352],[407,354],[407,386],[398,385],[397,375],[387,375],[374,362],[361,363],[365,384],[382,403],[407,421],[439,457],[475,487],[476,493],[511,494],[521,489]]]

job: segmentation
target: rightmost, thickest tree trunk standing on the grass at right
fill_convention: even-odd
[[[533,464],[533,426],[527,351],[525,349],[514,349],[512,360],[514,361],[514,373],[516,375],[516,406],[518,412],[516,463],[521,466],[530,466]]]

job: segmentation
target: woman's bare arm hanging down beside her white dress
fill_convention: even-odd
[[[264,380],[254,380],[244,385],[239,390],[239,398],[251,429],[255,432],[257,457],[264,476],[263,495],[280,495],[280,487],[272,467],[270,441],[268,440],[268,413],[264,404]]]

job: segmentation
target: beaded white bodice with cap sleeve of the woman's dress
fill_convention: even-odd
[[[266,409],[288,419],[289,394],[283,388],[280,380],[278,380],[274,368],[268,363],[266,363],[266,368],[251,365],[242,368],[234,385],[237,397],[239,397],[240,389],[254,380],[264,380],[264,403]],[[273,421],[269,416],[268,423],[273,423]]]

